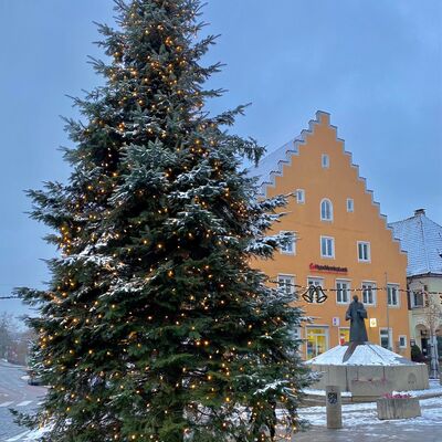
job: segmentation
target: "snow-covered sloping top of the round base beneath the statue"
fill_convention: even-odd
[[[404,357],[376,344],[358,345],[350,358],[343,362],[348,346],[336,346],[305,364],[315,366],[417,366]]]

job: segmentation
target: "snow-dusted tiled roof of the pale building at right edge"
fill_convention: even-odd
[[[393,236],[408,253],[407,276],[442,275],[442,227],[431,221],[423,209],[402,221],[389,224]]]

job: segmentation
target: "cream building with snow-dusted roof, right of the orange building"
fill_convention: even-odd
[[[408,253],[410,335],[412,343],[430,357],[442,357],[442,227],[430,220],[423,209],[390,224],[393,235]]]

